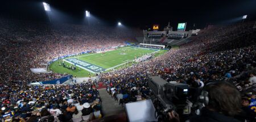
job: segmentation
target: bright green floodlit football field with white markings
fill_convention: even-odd
[[[158,56],[160,54],[165,53],[164,50],[158,49],[148,49],[148,48],[135,48],[135,47],[124,47],[120,49],[116,49],[114,51],[109,51],[103,53],[93,53],[93,54],[82,54],[80,56],[73,56],[64,59],[64,64],[71,66],[73,62],[71,60],[80,61],[82,63],[90,64],[89,68],[99,67],[109,71],[113,68],[121,68],[122,66],[126,66],[125,64],[128,61],[134,60],[135,57],[141,57],[144,54],[148,53],[156,53]],[[76,75],[77,77],[89,77],[94,76],[92,70],[88,71],[88,67],[82,66],[80,64],[76,65],[76,70],[71,70],[68,68],[64,68],[62,65],[62,60],[53,62],[49,68],[56,73],[67,73]],[[74,63],[73,63],[74,64]],[[129,65],[129,64],[128,64]],[[86,70],[87,69],[87,70]]]

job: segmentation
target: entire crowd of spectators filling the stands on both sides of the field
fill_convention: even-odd
[[[13,112],[13,116],[23,121],[72,118],[79,121],[81,116],[91,113],[95,118],[102,116],[95,84],[30,86],[27,83],[65,75],[33,74],[30,68],[46,67],[53,58],[67,54],[124,45],[134,39],[130,30],[6,19],[0,19],[0,25],[1,115]],[[162,56],[146,56],[146,61],[128,68],[101,73],[100,82],[109,84],[106,90],[123,104],[150,96],[147,77],[151,75],[194,88],[216,80],[228,81],[244,96],[242,106],[251,107],[256,82],[253,23],[213,26],[192,39]]]

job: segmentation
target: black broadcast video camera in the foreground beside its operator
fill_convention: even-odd
[[[158,76],[148,77],[148,86],[156,96],[155,107],[160,114],[177,111],[189,115],[192,103],[188,100],[189,86],[184,83],[167,82]],[[159,114],[159,113],[158,113]]]

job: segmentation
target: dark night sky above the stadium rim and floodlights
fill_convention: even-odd
[[[29,19],[48,22],[44,11],[43,1],[8,0],[0,5],[0,16],[4,18]],[[102,22],[116,25],[121,21],[128,27],[151,27],[159,24],[177,27],[177,23],[187,22],[188,27],[193,23],[199,28],[207,23],[231,22],[234,18],[248,15],[247,20],[255,20],[255,0],[200,0],[200,1],[64,1],[46,0],[50,4],[53,22],[75,23],[84,22],[84,12],[90,13]],[[53,12],[54,11],[54,12]]]

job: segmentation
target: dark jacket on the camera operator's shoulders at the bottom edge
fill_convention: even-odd
[[[207,108],[201,110],[200,116],[194,116],[188,120],[189,122],[241,122],[234,117],[226,116],[222,113],[209,111]]]

